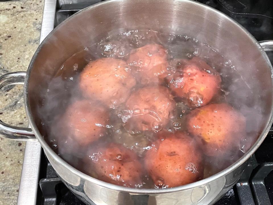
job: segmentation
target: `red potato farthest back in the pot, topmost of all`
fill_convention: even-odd
[[[132,66],[141,84],[158,83],[167,76],[167,51],[159,44],[148,44],[131,52],[127,64]]]

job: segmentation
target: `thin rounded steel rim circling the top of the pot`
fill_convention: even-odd
[[[71,166],[69,163],[67,163],[66,161],[64,161],[59,155],[57,155],[57,153],[55,153],[53,151],[53,149],[51,149],[51,147],[46,143],[46,141],[44,140],[44,138],[42,137],[42,135],[40,134],[35,122],[34,122],[34,118],[31,115],[31,109],[30,109],[30,104],[29,104],[29,90],[28,90],[28,85],[29,85],[29,79],[30,79],[30,73],[32,71],[33,68],[33,64],[34,61],[36,60],[36,57],[38,55],[38,53],[40,52],[42,46],[44,44],[46,44],[47,40],[54,34],[55,30],[57,30],[57,28],[59,26],[62,26],[63,24],[65,24],[67,21],[70,20],[70,18],[76,18],[80,13],[82,12],[87,12],[88,10],[92,10],[92,9],[96,9],[96,7],[100,7],[102,5],[106,5],[110,2],[116,2],[119,0],[108,0],[108,1],[103,1],[100,3],[97,3],[95,5],[92,5],[90,7],[87,7],[85,9],[82,9],[81,11],[77,12],[76,14],[72,15],[71,17],[67,18],[66,20],[64,20],[63,22],[61,22],[55,29],[53,29],[47,36],[46,38],[42,41],[42,43],[39,45],[39,47],[37,48],[36,52],[34,53],[34,56],[31,59],[31,62],[28,66],[28,70],[26,73],[26,79],[25,79],[25,83],[24,83],[24,104],[25,104],[25,109],[26,109],[26,113],[27,113],[27,117],[28,117],[28,121],[30,123],[30,126],[36,136],[36,138],[38,139],[38,141],[40,142],[41,146],[43,147],[44,151],[46,154],[49,154],[51,157],[53,157],[53,159],[61,164],[63,167],[65,167],[65,169],[68,169],[69,171],[71,171],[73,174],[79,176],[80,178],[92,182],[96,185],[99,186],[103,186],[105,188],[109,188],[109,189],[114,189],[117,191],[122,191],[122,192],[130,192],[130,193],[135,193],[135,194],[160,194],[160,193],[170,193],[170,192],[176,192],[176,191],[181,191],[181,190],[189,190],[195,187],[199,187],[199,186],[204,186],[207,183],[210,183],[216,179],[219,179],[220,177],[223,177],[225,175],[227,175],[228,173],[232,172],[234,169],[236,169],[237,167],[241,166],[245,161],[247,161],[247,159],[249,159],[251,157],[251,155],[253,155],[253,153],[258,149],[258,147],[262,144],[262,142],[264,141],[264,139],[266,138],[270,127],[273,123],[273,106],[271,106],[271,110],[270,110],[270,120],[268,120],[266,126],[264,127],[262,133],[260,134],[260,136],[258,137],[257,141],[255,142],[255,144],[249,149],[249,151],[247,151],[247,153],[245,153],[240,159],[238,159],[235,163],[233,163],[232,165],[230,165],[229,167],[227,167],[226,169],[218,172],[217,174],[214,174],[208,178],[202,179],[200,181],[194,182],[194,183],[190,183],[190,184],[186,184],[186,185],[182,185],[182,186],[177,186],[177,187],[173,187],[173,188],[165,188],[165,189],[154,189],[154,188],[129,188],[129,187],[123,187],[123,186],[119,186],[119,185],[114,185],[114,184],[110,184],[104,181],[101,181],[99,179],[93,178],[89,175],[86,175],[82,172],[80,172],[79,170],[77,170],[76,168],[74,168],[73,166]],[[260,52],[264,58],[264,60],[266,60],[267,64],[268,64],[268,68],[271,70],[271,73],[273,74],[273,67],[270,63],[270,60],[268,58],[268,56],[266,55],[266,52],[262,49],[262,47],[260,46],[260,44],[258,43],[258,41],[243,27],[241,26],[238,22],[236,22],[235,20],[231,19],[230,17],[228,17],[226,14],[212,8],[209,7],[207,5],[204,5],[202,3],[196,2],[196,1],[191,1],[191,0],[173,0],[173,1],[179,1],[179,2],[187,2],[189,4],[195,4],[198,5],[199,7],[202,7],[203,9],[207,9],[210,12],[214,12],[216,13],[218,16],[221,16],[221,18],[224,18],[225,20],[230,21],[231,23],[235,24],[236,26],[238,26],[241,30],[243,30],[246,34],[246,36],[248,38],[250,38],[254,44],[256,44],[256,46],[260,49]],[[273,85],[273,79],[271,78],[271,83]],[[273,97],[272,97],[272,102],[273,102]]]

